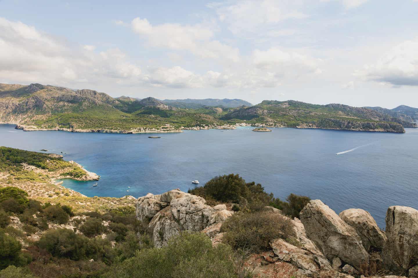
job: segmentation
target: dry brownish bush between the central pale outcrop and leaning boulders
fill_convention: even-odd
[[[289,218],[269,211],[235,213],[222,224],[221,232],[225,232],[223,243],[250,252],[268,249],[275,238],[295,235]]]

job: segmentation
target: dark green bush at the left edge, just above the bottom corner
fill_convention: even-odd
[[[17,240],[0,230],[0,269],[9,265],[20,266],[29,263],[31,258],[23,254],[21,249],[22,245]]]

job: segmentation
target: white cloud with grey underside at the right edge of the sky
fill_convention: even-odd
[[[392,48],[376,63],[364,65],[355,75],[393,86],[418,86],[418,38]]]

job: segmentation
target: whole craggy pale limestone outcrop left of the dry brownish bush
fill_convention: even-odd
[[[204,198],[179,189],[161,195],[148,193],[136,203],[136,218],[143,223],[150,221],[146,228],[156,247],[166,245],[171,237],[183,230],[203,230],[213,242],[219,242],[222,222],[233,213],[226,205],[211,207],[206,205]]]

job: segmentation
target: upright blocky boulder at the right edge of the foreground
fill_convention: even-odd
[[[385,268],[406,272],[418,258],[418,210],[399,205],[386,212],[387,243],[382,251]]]

